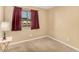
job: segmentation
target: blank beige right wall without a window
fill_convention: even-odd
[[[79,7],[55,7],[49,10],[48,34],[79,48]]]

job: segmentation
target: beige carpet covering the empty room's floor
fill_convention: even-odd
[[[18,44],[8,52],[75,52],[75,50],[46,37]]]

